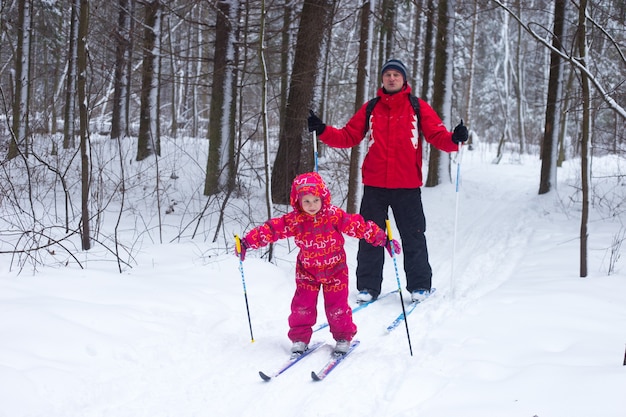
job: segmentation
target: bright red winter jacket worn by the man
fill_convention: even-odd
[[[381,188],[418,188],[422,180],[422,144],[417,117],[406,86],[395,94],[378,90],[380,100],[370,116],[367,154],[361,167],[363,184]],[[420,99],[422,132],[426,141],[444,152],[456,152],[452,132],[428,103]],[[319,135],[322,142],[335,148],[351,148],[363,140],[365,103],[341,129],[326,126]]]

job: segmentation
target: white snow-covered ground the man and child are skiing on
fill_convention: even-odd
[[[85,269],[18,275],[4,255],[0,416],[624,417],[624,260],[607,274],[624,215],[592,208],[580,278],[576,162],[544,196],[539,169],[465,152],[458,194],[424,189],[437,293],[409,316],[413,356],[404,327],[385,330],[401,311],[393,295],[354,315],[361,345],[322,382],[310,372],[327,350],[269,383],[258,375],[288,355],[292,242],[276,246],[275,264],[260,251],[243,263],[254,342],[232,245],[144,244],[122,274],[82,253]],[[354,302],[357,241],[346,250]],[[383,291],[395,288],[388,258]],[[324,322],[321,300],[319,313]],[[332,343],[327,329],[314,340]]]

